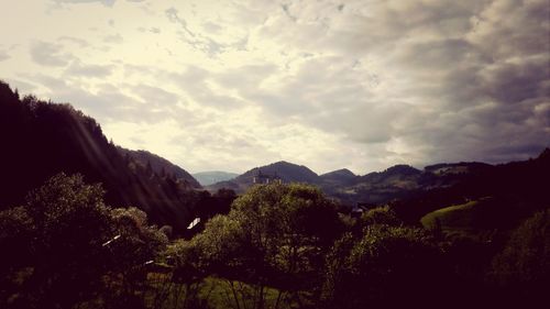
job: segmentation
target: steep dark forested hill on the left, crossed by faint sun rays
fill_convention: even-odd
[[[157,224],[183,229],[193,219],[196,181],[160,175],[121,155],[100,125],[70,104],[20,98],[0,81],[0,209],[22,203],[29,190],[65,172],[102,183],[110,205],[139,207]]]

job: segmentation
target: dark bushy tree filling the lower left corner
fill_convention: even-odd
[[[0,245],[8,253],[0,273],[13,278],[0,305],[129,304],[128,294],[113,288],[121,285],[112,284],[122,282],[122,289],[128,288],[129,274],[143,275],[142,266],[166,238],[146,225],[143,211],[113,210],[102,198],[100,185],[85,184],[81,175],[58,174],[30,192],[24,206],[0,212]]]

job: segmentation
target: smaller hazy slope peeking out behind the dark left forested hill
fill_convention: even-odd
[[[143,150],[131,151],[120,146],[117,146],[117,150],[120,152],[122,156],[128,155],[134,158],[144,168],[146,168],[147,164],[151,164],[151,168],[153,169],[153,172],[161,176],[169,175],[170,177],[177,180],[187,181],[188,185],[193,188],[197,189],[201,188],[199,181],[197,181],[197,179],[195,179],[189,173],[187,173],[187,170],[173,164],[172,162],[165,159],[164,157],[157,156],[153,153]]]

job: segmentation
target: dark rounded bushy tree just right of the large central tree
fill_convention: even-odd
[[[405,227],[367,225],[363,236],[338,240],[327,256],[327,308],[422,306],[444,296],[441,252],[429,233]]]

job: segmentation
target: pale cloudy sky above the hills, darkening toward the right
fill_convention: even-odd
[[[0,37],[0,79],[191,173],[550,146],[549,0],[2,0]]]

